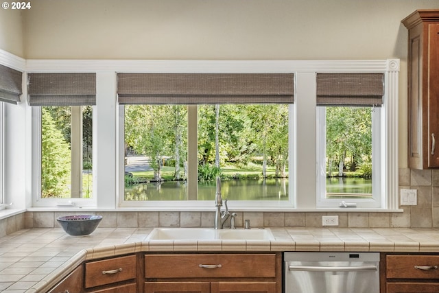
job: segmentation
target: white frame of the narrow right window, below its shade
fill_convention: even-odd
[[[340,207],[342,201],[355,203],[361,208],[380,208],[383,203],[381,200],[381,170],[383,162],[381,162],[381,153],[384,152],[384,144],[381,143],[381,108],[373,108],[372,110],[372,198],[360,199],[349,198],[329,199],[326,198],[326,109],[327,107],[317,107],[317,207],[318,208],[337,208]]]

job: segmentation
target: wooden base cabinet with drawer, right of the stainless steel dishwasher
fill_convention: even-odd
[[[384,278],[386,293],[439,292],[439,255],[386,255]]]

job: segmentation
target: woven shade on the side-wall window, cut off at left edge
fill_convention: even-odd
[[[21,90],[20,71],[0,65],[0,102],[18,104],[20,102]]]

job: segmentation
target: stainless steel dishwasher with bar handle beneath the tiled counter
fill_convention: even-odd
[[[285,293],[378,293],[379,253],[284,253]]]

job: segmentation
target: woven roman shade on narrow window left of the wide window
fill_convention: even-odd
[[[96,73],[29,73],[30,106],[96,104]]]

